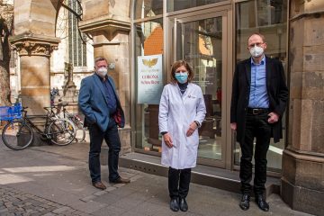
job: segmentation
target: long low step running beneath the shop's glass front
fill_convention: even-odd
[[[160,164],[160,157],[141,153],[129,153],[120,157],[119,164],[122,167],[139,170],[144,173],[167,177],[168,167]],[[238,171],[197,165],[193,168],[191,182],[233,193],[240,193]],[[280,193],[280,179],[267,176],[266,196],[269,196],[271,193]]]

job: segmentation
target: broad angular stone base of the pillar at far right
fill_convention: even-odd
[[[281,196],[293,210],[324,215],[324,160],[285,149]]]

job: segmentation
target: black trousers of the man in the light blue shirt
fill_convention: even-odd
[[[269,148],[272,126],[267,122],[267,113],[247,113],[246,130],[243,142],[240,143],[242,157],[240,158],[239,177],[241,192],[250,193],[252,179],[253,139],[257,139],[255,149],[254,193],[263,194],[266,190],[266,152]]]

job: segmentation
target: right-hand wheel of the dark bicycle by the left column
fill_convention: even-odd
[[[50,142],[58,146],[70,144],[76,137],[76,126],[67,119],[56,119],[49,124]]]

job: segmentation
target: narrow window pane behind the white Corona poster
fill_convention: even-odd
[[[137,57],[163,54],[162,19],[135,24],[135,78]],[[138,86],[136,86],[138,88]],[[137,94],[137,89],[136,89]],[[138,95],[135,96],[138,98]],[[161,136],[158,131],[158,104],[136,104],[136,148],[161,152]]]

